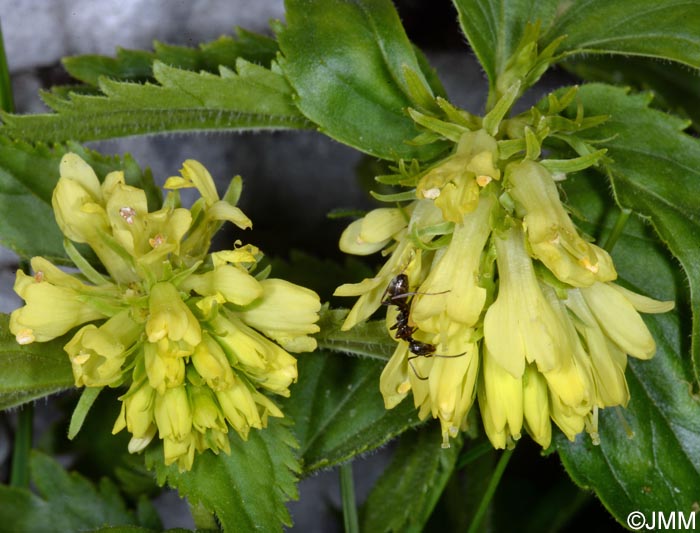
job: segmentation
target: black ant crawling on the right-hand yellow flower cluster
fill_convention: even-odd
[[[422,377],[416,372],[413,363],[411,362],[416,357],[462,357],[467,352],[462,352],[458,355],[437,355],[435,353],[435,345],[427,342],[417,341],[413,338],[413,334],[416,332],[416,327],[409,324],[411,302],[413,298],[409,299],[409,296],[415,294],[444,294],[448,291],[434,292],[434,293],[418,293],[410,292],[408,286],[408,276],[406,274],[398,274],[394,279],[389,282],[389,286],[384,291],[384,296],[382,296],[382,304],[389,306],[395,305],[399,308],[399,314],[396,315],[396,324],[391,326],[389,329],[396,330],[396,338],[408,342],[408,351],[413,355],[408,357],[408,364],[411,365],[413,373],[420,380],[426,380],[427,377]]]

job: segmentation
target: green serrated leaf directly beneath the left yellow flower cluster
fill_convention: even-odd
[[[288,425],[271,418],[267,428],[252,430],[247,441],[230,431],[231,455],[199,454],[189,472],[165,466],[160,446],[146,452],[146,463],[159,483],[167,481],[191,504],[215,513],[225,531],[282,531],[291,525],[285,502],[297,497],[300,470]]]

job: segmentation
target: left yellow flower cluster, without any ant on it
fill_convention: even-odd
[[[229,453],[229,426],[245,439],[268,416],[283,416],[264,392],[289,395],[297,377],[289,351],[316,348],[309,335],[320,302],[264,271],[254,276],[261,254],[252,245],[207,253],[224,221],[251,226],[235,206],[240,178],[220,199],[209,172],[188,160],[166,182],[163,207],[149,212],[145,192],[122,172],[100,183],[69,153],[60,175],[53,208],[81,273],[41,257],[31,261],[33,276],[17,272],[15,291],[26,302],[10,318],[17,341],[47,341],[88,323],[65,345],[76,386],[128,385],[114,432],[132,434],[132,453],[158,434],[165,463],[181,470],[195,451]],[[185,209],[177,189],[188,187],[201,198]],[[106,275],[71,241],[87,244]]]

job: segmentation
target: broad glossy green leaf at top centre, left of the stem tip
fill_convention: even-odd
[[[299,109],[321,131],[383,159],[431,159],[447,148],[406,143],[419,132],[404,109],[420,102],[404,69],[424,89],[431,84],[389,0],[288,0],[286,7],[281,65]]]

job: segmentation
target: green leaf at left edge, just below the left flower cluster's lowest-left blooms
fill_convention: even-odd
[[[20,346],[9,330],[10,317],[0,314],[0,409],[43,398],[74,385],[63,351],[65,339]]]

